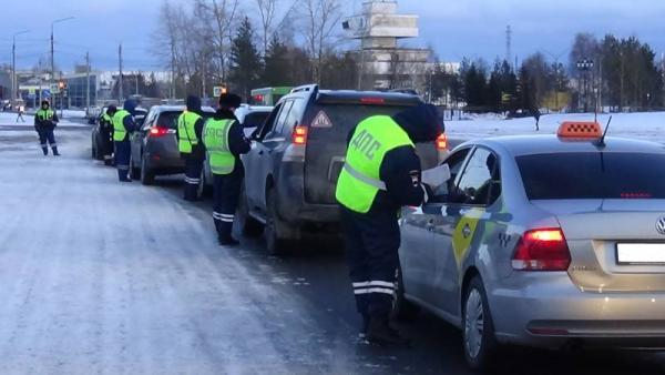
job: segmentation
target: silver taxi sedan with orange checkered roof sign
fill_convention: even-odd
[[[665,347],[665,146],[562,134],[459,145],[400,219],[395,313],[460,327],[473,368],[500,344]]]

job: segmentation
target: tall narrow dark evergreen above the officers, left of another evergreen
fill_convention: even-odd
[[[262,74],[260,55],[254,43],[252,21],[245,17],[231,48],[231,81],[239,95],[249,98]]]

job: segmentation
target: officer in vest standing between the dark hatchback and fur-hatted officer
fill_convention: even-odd
[[[205,160],[202,132],[205,119],[201,115],[201,99],[187,97],[187,110],[177,119],[177,146],[185,160],[185,201],[196,201],[201,172]]]

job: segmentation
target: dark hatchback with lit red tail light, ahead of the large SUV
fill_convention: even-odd
[[[155,105],[142,121],[141,129],[130,136],[132,156],[130,169],[132,179],[141,179],[144,185],[154,182],[156,175],[177,174],[185,171],[177,148],[177,119],[184,105]],[[204,118],[211,118],[213,110],[204,109]]]

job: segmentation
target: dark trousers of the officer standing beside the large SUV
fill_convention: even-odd
[[[213,220],[219,239],[231,237],[235,212],[238,207],[241,186],[245,178],[245,169],[239,160],[236,160],[235,169],[229,174],[214,174],[214,212]]]

